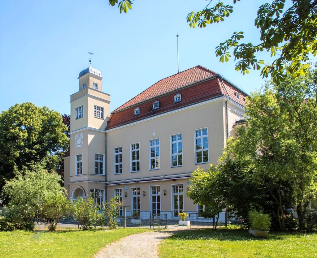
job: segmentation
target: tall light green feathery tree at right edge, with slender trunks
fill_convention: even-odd
[[[317,193],[316,71],[280,85],[268,83],[263,92],[251,94],[245,126],[229,141],[222,161],[233,159],[247,169],[254,184],[265,185],[275,205],[281,230],[285,210],[296,208],[299,227]],[[252,173],[249,173],[252,170]]]

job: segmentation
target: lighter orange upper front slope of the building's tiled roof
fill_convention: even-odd
[[[178,74],[171,75],[167,78],[158,81],[151,87],[148,87],[145,91],[141,92],[133,99],[127,101],[122,106],[118,107],[116,110],[113,111],[113,113],[128,106],[132,106],[136,103],[152,99],[155,96],[159,96],[172,90],[184,87],[188,84],[192,84],[196,81],[207,79],[216,74],[217,73],[198,65]]]

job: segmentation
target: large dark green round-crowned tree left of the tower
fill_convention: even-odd
[[[0,113],[0,191],[16,171],[44,162],[55,170],[56,153],[66,152],[69,139],[61,115],[47,107],[26,102]]]

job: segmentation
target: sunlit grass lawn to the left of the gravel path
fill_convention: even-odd
[[[0,232],[0,257],[92,257],[100,248],[142,228]]]

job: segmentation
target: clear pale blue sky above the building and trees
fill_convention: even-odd
[[[167,76],[202,65],[247,92],[264,80],[258,71],[242,75],[234,60],[220,63],[215,47],[234,31],[245,42],[259,42],[254,26],[262,0],[241,1],[223,23],[189,28],[186,16],[202,10],[204,0],[135,0],[120,14],[108,0],[3,1],[0,10],[0,111],[31,101],[70,113],[69,95],[78,91],[78,74],[92,66],[103,74],[103,91],[111,94],[111,110]],[[208,1],[209,2],[209,1]],[[227,0],[232,4],[233,0]],[[262,54],[266,56],[267,54]]]

